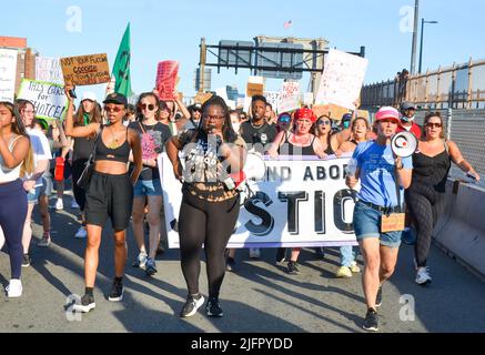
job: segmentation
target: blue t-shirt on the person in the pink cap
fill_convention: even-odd
[[[361,169],[361,191],[358,200],[380,206],[397,206],[395,162],[391,145],[381,145],[374,141],[357,145],[352,155]],[[403,169],[413,169],[411,156],[403,158]],[[404,201],[404,189],[400,189],[401,203]]]

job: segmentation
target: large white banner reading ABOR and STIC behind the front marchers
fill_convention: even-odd
[[[236,231],[228,247],[356,245],[353,209],[356,192],[345,185],[348,158],[266,160],[264,181],[251,181],[241,194]],[[181,183],[166,154],[161,154],[169,246],[179,247]],[[249,197],[250,196],[250,197]]]

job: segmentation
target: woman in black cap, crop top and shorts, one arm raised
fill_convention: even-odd
[[[93,287],[98,268],[99,247],[102,229],[107,219],[111,219],[114,231],[114,282],[108,297],[109,301],[122,301],[124,265],[127,263],[125,230],[130,223],[133,204],[133,185],[141,172],[142,156],[139,134],[123,125],[127,110],[127,98],[112,93],[103,101],[110,125],[90,123],[73,126],[72,101],[69,90],[64,88],[69,100],[65,116],[65,134],[74,138],[95,135],[94,171],[85,194],[85,219],[88,245],[84,257],[85,293],[81,304],[74,305],[80,312],[89,312],[95,307]],[[128,159],[133,152],[134,170],[128,174]]]

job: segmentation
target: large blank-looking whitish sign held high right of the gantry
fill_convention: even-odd
[[[325,60],[316,104],[333,103],[355,110],[368,61],[358,55],[331,49]]]

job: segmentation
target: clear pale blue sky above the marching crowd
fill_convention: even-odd
[[[485,58],[485,2],[483,0],[421,0],[420,18],[436,20],[425,27],[423,69],[436,69],[469,57]],[[67,30],[69,7],[82,11],[81,32]],[[137,93],[154,84],[156,63],[178,60],[179,91],[193,95],[201,37],[209,44],[220,40],[249,40],[255,36],[324,38],[330,47],[358,51],[366,47],[370,60],[365,82],[393,78],[410,68],[412,33],[403,31],[405,7],[414,0],[178,0],[178,1],[77,1],[16,0],[0,23],[0,36],[26,37],[28,45],[44,57],[69,57],[107,52],[112,67],[121,37],[131,22],[131,75]],[[404,11],[400,13],[400,11]],[[283,23],[292,20],[292,28]],[[416,64],[417,67],[417,64]],[[236,84],[244,91],[249,70],[212,70],[212,90]],[[279,90],[281,80],[269,80],[266,89]],[[305,75],[301,87],[306,89]],[[102,85],[80,88],[99,95]]]

